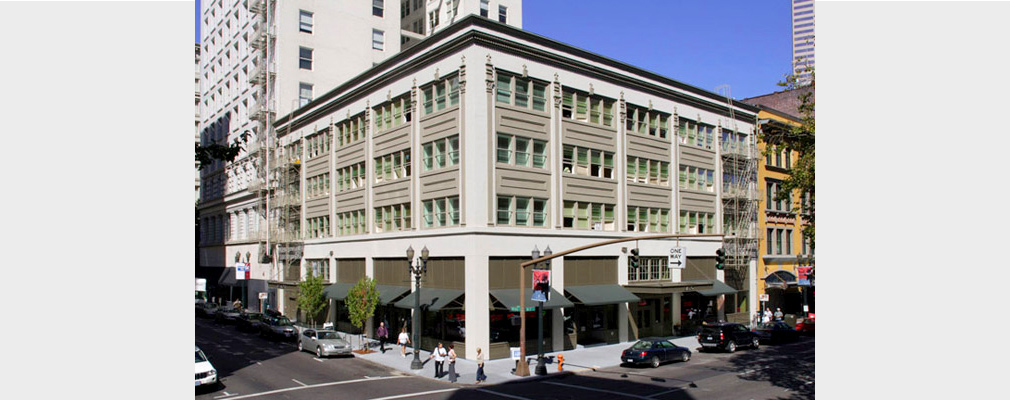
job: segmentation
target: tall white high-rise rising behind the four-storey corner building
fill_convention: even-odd
[[[256,264],[266,252],[265,148],[277,115],[308,104],[464,15],[486,11],[489,18],[522,27],[520,0],[209,0],[201,7],[199,140],[247,140],[234,162],[214,162],[199,172],[199,266],[217,270],[236,262]],[[287,222],[278,217],[270,225],[278,223],[281,235]]]

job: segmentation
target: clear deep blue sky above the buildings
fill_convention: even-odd
[[[741,99],[781,90],[792,56],[789,0],[526,0],[523,29]],[[200,41],[200,1],[196,1]],[[601,28],[605,27],[605,28]]]

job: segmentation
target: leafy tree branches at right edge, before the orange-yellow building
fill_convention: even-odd
[[[803,72],[809,73],[810,78],[801,79],[796,74],[786,76],[784,82],[779,86],[785,87],[788,91],[796,91],[800,101],[798,112],[800,115],[799,125],[790,125],[784,130],[770,130],[762,133],[762,140],[769,145],[765,152],[796,152],[798,158],[796,164],[790,171],[790,176],[781,184],[781,190],[776,194],[775,201],[788,200],[789,195],[794,191],[800,192],[800,198],[809,198],[807,204],[803,204],[794,209],[805,216],[808,225],[803,228],[803,237],[810,241],[810,247],[814,246],[814,69],[807,67]]]

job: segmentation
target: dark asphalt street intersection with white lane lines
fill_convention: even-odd
[[[218,370],[221,386],[198,399],[812,399],[814,339],[734,354],[694,352],[688,363],[658,369],[614,366],[539,381],[473,385],[410,376],[360,358],[319,360],[293,342],[273,341],[231,325],[197,319],[197,345]],[[615,355],[616,357],[616,355]],[[589,366],[566,365],[567,371]],[[556,366],[548,371],[553,373]]]

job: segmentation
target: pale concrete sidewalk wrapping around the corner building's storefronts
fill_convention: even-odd
[[[356,334],[346,334],[340,332],[342,336],[350,342],[354,348],[361,348],[361,343],[359,341],[359,336]],[[369,338],[366,341],[375,341]],[[695,336],[685,336],[677,337],[673,339],[673,342],[677,345],[686,346],[692,352],[697,352],[696,348],[699,346],[698,339]],[[568,373],[585,371],[590,369],[599,369],[614,367],[620,365],[620,355],[625,348],[629,347],[632,342],[623,342],[616,344],[602,344],[593,346],[583,346],[579,345],[575,349],[567,352],[553,352],[544,354],[544,357],[557,362],[557,357],[559,354],[565,355],[565,368],[564,371]],[[373,347],[375,353],[370,353],[367,355],[355,354],[355,357],[362,358],[371,361],[376,364],[381,364],[383,366],[398,370],[405,374],[417,375],[429,379],[435,379],[435,363],[434,360],[428,360],[428,355],[431,354],[429,351],[422,349],[420,352],[420,360],[424,363],[424,368],[420,370],[411,370],[410,363],[413,359],[413,348],[407,346],[407,357],[403,358],[400,356],[400,346],[396,344],[388,344],[386,346],[386,353],[380,353],[379,347]],[[531,360],[529,364],[529,377],[517,377],[512,375],[512,369],[515,368],[515,362],[512,359],[499,359],[499,360],[489,360],[484,362],[484,374],[488,376],[487,381],[481,385],[495,385],[500,383],[506,383],[510,381],[516,381],[520,379],[534,379],[539,378],[535,375],[536,368],[536,355],[535,348],[527,348],[530,352],[526,355],[527,358]],[[463,359],[462,355],[456,360],[456,373],[458,375],[457,383],[465,385],[474,385],[475,377],[477,376],[477,362],[474,360]],[[547,376],[557,375],[558,364],[551,363],[547,364]],[[448,371],[448,362],[445,363],[445,371]],[[443,376],[439,378],[441,381],[447,381],[448,377]]]

